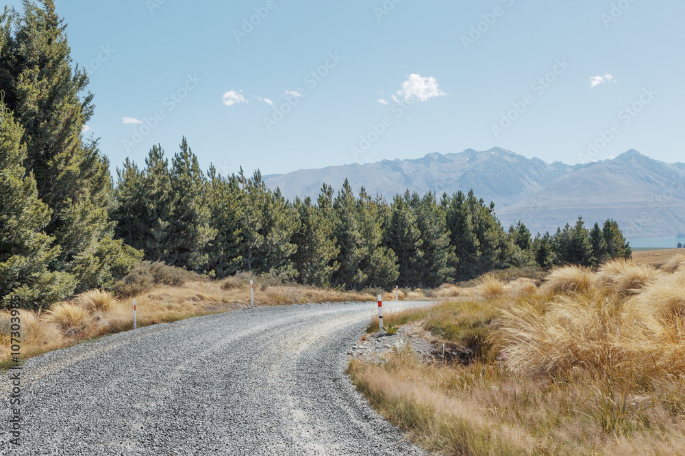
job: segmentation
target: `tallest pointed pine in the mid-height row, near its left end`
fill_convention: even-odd
[[[210,209],[204,191],[206,178],[184,137],[172,159],[171,190],[175,206],[169,236],[169,263],[203,271],[209,263],[207,244],[216,236],[210,227]]]

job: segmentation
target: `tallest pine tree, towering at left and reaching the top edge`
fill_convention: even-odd
[[[75,291],[107,286],[139,252],[112,243],[112,179],[97,139],[84,139],[93,113],[88,77],[72,68],[66,26],[51,0],[24,1],[0,35],[0,88],[23,126],[24,167],[32,170],[39,198],[50,211],[43,230],[59,247],[51,268],[75,276]],[[125,273],[125,272],[124,272]]]

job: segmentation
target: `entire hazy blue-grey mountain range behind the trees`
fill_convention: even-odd
[[[473,189],[479,198],[495,202],[504,226],[522,220],[533,233],[553,232],[579,215],[590,225],[614,219],[632,238],[674,237],[685,231],[685,163],[664,163],[636,150],[615,159],[565,165],[502,148],[467,149],[264,176],[267,186],[279,187],[290,199],[316,199],[323,183],[337,190],[345,178],[354,191],[364,186],[371,195],[388,199],[406,190],[440,196]]]

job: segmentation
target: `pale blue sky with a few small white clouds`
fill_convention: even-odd
[[[682,1],[55,3],[113,173],[183,136],[221,174],[495,146],[685,161]]]

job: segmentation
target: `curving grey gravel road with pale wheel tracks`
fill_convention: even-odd
[[[238,310],[33,358],[21,371],[21,447],[8,443],[10,373],[1,377],[0,454],[425,455],[345,375],[375,310]]]

